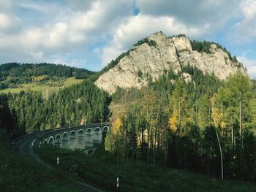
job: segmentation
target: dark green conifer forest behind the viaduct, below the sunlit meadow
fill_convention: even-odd
[[[47,100],[42,98],[40,92],[20,91],[18,94],[2,94],[0,97],[4,102],[1,104],[4,109],[1,115],[8,116],[5,112],[8,109],[12,117],[17,119],[16,129],[20,134],[61,126],[105,122],[110,115],[108,93],[97,88],[91,80],[63,88]]]

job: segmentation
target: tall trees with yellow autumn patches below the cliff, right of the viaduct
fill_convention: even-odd
[[[181,73],[192,80],[185,82]],[[118,88],[122,106],[106,138],[124,159],[189,169],[224,178],[256,179],[256,108],[242,72],[220,82],[199,69],[165,72],[148,88]]]

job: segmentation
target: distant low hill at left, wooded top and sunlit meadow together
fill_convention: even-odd
[[[56,64],[1,64],[0,93],[20,91],[50,91],[73,85],[95,72]]]

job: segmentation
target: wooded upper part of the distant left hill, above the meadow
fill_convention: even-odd
[[[67,77],[86,79],[92,74],[94,74],[94,72],[86,69],[56,64],[1,64],[0,90],[16,88],[17,85],[22,83],[59,80],[60,78]]]

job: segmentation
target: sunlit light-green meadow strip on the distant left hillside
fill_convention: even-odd
[[[83,80],[76,80],[75,77],[69,77],[67,79],[59,81],[47,81],[47,82],[31,82],[26,84],[18,85],[18,88],[7,88],[0,90],[0,93],[20,93],[20,91],[48,91],[56,93],[60,88],[68,87],[77,83],[83,82]]]

